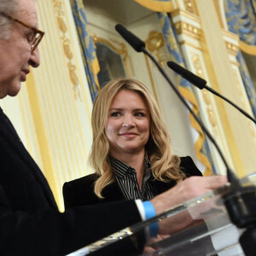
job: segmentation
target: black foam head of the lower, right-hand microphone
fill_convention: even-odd
[[[199,76],[195,75],[195,73],[190,72],[188,69],[178,65],[176,62],[168,61],[168,67],[171,67],[173,71],[180,74],[184,79],[187,79],[191,84],[194,84],[199,89],[204,89],[207,81],[205,79],[201,79]]]

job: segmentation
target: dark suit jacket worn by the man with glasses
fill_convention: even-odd
[[[0,255],[66,255],[140,220],[134,201],[59,212],[43,173],[0,108]]]

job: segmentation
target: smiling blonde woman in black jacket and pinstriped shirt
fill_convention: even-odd
[[[147,86],[116,79],[99,92],[92,110],[94,174],[65,183],[65,207],[106,201],[148,201],[186,177],[201,176],[193,160],[172,154],[160,109]]]

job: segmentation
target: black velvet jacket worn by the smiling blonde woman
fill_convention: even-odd
[[[195,163],[189,156],[181,157],[180,166],[186,177],[201,176],[201,172],[197,169]],[[119,184],[116,181],[102,190],[104,199],[98,198],[94,193],[94,183],[97,178],[98,176],[96,173],[93,173],[71,182],[64,183],[63,196],[65,207],[78,207],[125,199],[121,189],[119,189]],[[167,189],[171,189],[176,184],[172,180],[168,183],[164,183],[159,180],[151,179],[149,182],[153,184],[157,195],[165,192]]]

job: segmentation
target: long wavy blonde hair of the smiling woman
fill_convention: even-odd
[[[108,122],[108,110],[113,102],[113,97],[120,90],[135,91],[140,96],[143,96],[144,101],[148,104],[150,135],[145,151],[150,161],[154,178],[167,182],[170,179],[178,181],[184,177],[183,172],[179,169],[179,157],[172,155],[169,131],[160,109],[148,88],[136,79],[115,79],[99,91],[91,115],[93,143],[89,161],[99,175],[95,183],[95,193],[100,198],[103,198],[102,189],[114,181],[109,161],[109,143],[105,128]]]

